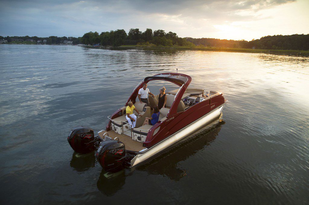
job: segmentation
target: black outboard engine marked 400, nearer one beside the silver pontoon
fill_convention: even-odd
[[[101,142],[95,157],[105,171],[120,170],[125,160],[125,145],[117,140]]]

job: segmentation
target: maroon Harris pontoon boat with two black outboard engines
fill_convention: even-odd
[[[180,86],[167,92],[166,107],[160,109],[159,122],[154,126],[143,125],[153,113],[151,107],[158,104],[158,96],[149,97],[150,106],[136,102],[138,90],[144,83],[164,80]],[[75,127],[68,136],[70,146],[79,153],[97,149],[95,156],[104,170],[113,172],[122,167],[134,167],[157,153],[167,149],[218,118],[228,102],[223,94],[213,90],[189,87],[191,77],[180,73],[162,73],[146,77],[121,107],[111,116],[105,130],[98,136],[89,127]],[[133,102],[142,116],[137,115],[136,127],[127,122],[125,108]]]

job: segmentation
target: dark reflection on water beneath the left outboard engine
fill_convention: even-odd
[[[95,167],[95,157],[93,156],[93,152],[88,154],[73,152],[70,166],[79,172],[87,171],[91,167]]]

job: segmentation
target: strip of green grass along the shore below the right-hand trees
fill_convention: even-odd
[[[185,47],[185,46],[144,46],[144,45],[122,45],[121,47],[139,47],[146,50],[157,49],[176,49],[176,50],[208,50],[223,52],[243,52],[243,53],[284,53],[284,54],[303,54],[308,56],[309,50],[268,50],[268,49],[247,49],[247,48],[213,48],[213,47]]]

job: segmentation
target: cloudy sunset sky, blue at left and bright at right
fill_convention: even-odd
[[[130,28],[235,40],[309,33],[309,0],[1,2],[2,36],[79,37]]]

